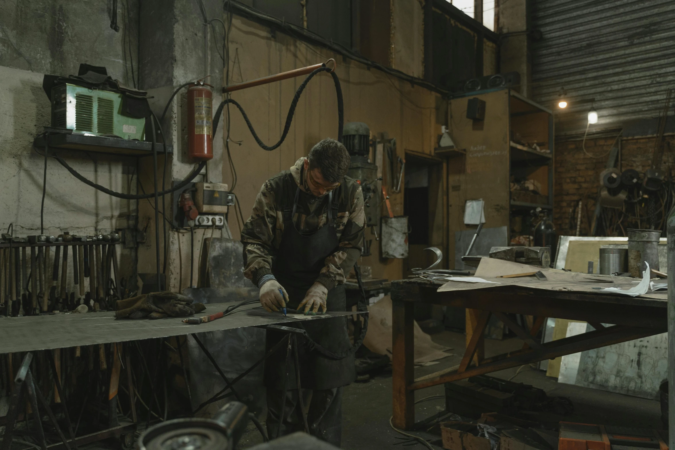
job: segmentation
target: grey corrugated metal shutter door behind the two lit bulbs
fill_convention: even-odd
[[[657,117],[675,87],[675,0],[533,0],[533,100],[556,111],[556,134]],[[557,107],[560,88],[566,110]],[[585,102],[585,103],[584,103]]]

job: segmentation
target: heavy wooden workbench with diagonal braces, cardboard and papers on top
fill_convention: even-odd
[[[475,289],[466,286],[439,292],[437,289],[443,285],[442,282],[424,279],[392,281],[394,426],[408,430],[413,428],[416,389],[668,331],[664,293],[653,293],[643,298],[599,291],[537,289],[532,285],[495,284],[485,287],[485,283],[478,284],[481,287]],[[415,302],[467,308],[467,345],[459,366],[414,378],[412,325]],[[532,329],[523,329],[506,313],[535,316]],[[483,358],[483,331],[491,314],[525,341],[522,349]],[[547,317],[583,320],[595,330],[539,343],[533,336],[537,335]],[[602,323],[614,325],[603,327]]]

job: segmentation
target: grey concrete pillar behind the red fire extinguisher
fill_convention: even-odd
[[[220,1],[204,0],[207,18],[226,22]],[[223,26],[213,22],[205,28],[204,16],[197,2],[175,0],[148,0],[140,7],[140,88],[147,90],[155,98],[151,107],[157,117],[161,114],[171,94],[178,86],[186,82],[204,78],[205,67],[209,78],[207,83],[213,86],[213,113],[221,102],[223,86]],[[208,30],[208,48],[205,49],[205,30]],[[205,51],[206,50],[206,51]],[[194,168],[195,161],[188,158],[187,145],[187,107],[185,105],[187,88],[182,89],[173,99],[162,123],[165,139],[173,146],[173,155],[167,160],[167,179],[165,187],[173,181],[184,179]],[[223,180],[223,122],[213,139],[214,159],[207,163],[207,170],[194,181]],[[141,163],[139,180],[146,192],[153,189],[153,161],[145,158]],[[159,158],[159,186],[161,189],[164,160]],[[165,196],[166,215],[173,217],[173,196]],[[161,206],[161,200],[160,200]],[[154,200],[143,200],[139,205],[140,227],[148,224],[147,240],[138,250],[138,272],[155,273],[155,210]],[[166,288],[172,291],[182,290],[189,285],[190,278],[190,233],[176,230],[163,223],[159,218],[160,260],[163,269],[166,259]],[[167,227],[166,258],[164,256],[164,227]],[[204,237],[219,237],[219,231],[211,233],[194,232],[194,282],[197,279],[198,253]],[[223,230],[223,236],[229,231]]]

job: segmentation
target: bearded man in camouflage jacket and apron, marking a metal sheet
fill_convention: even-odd
[[[242,230],[242,244],[244,275],[261,289],[260,301],[267,311],[292,308],[321,314],[346,310],[343,283],[360,256],[365,224],[361,187],[346,176],[349,164],[344,146],[324,139],[308,157],[263,184]],[[303,430],[300,405],[304,404],[311,434],[339,446],[342,387],[356,376],[346,318],[293,325],[297,323],[290,326],[304,328],[315,343],[347,356],[327,358],[298,339],[299,380],[284,376],[286,351],[277,351],[266,360],[269,435]],[[285,338],[284,333],[267,331],[268,349]],[[296,374],[295,370],[294,358],[290,358],[286,373]],[[286,400],[282,401],[284,388]],[[284,414],[282,403],[286,404]]]

